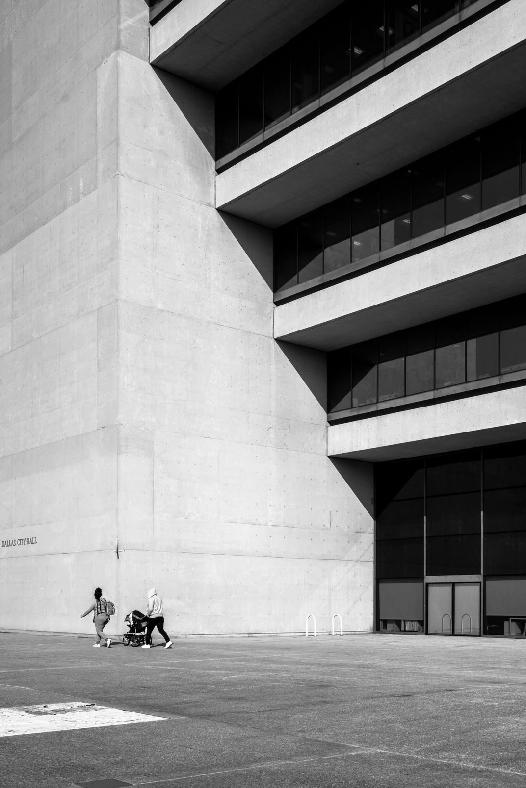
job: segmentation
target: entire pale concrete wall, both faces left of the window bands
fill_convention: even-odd
[[[323,354],[273,339],[270,232],[215,210],[213,97],[148,64],[143,0],[0,24],[16,626],[88,632],[101,585],[118,630],[155,585],[171,634],[370,629],[371,466],[326,456]]]

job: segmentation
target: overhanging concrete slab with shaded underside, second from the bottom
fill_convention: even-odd
[[[330,351],[526,290],[524,214],[274,310],[274,338]]]

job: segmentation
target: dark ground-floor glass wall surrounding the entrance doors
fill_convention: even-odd
[[[378,629],[423,630],[425,577],[482,575],[483,633],[525,636],[526,441],[379,463],[375,506]]]

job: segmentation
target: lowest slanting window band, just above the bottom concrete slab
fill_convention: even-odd
[[[526,295],[327,354],[327,412],[526,370]]]

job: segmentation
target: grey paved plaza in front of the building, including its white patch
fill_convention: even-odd
[[[2,788],[526,781],[524,641],[194,638],[167,651],[91,643],[0,634]]]

